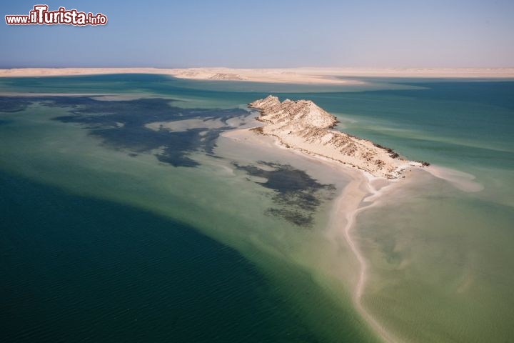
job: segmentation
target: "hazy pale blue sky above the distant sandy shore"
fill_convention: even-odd
[[[34,1],[0,4],[1,68],[514,66],[514,0]],[[40,3],[109,24],[5,24]]]

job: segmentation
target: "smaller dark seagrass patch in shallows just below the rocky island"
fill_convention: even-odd
[[[313,214],[324,200],[332,199],[336,190],[333,184],[321,184],[306,172],[288,164],[258,161],[258,164],[271,167],[271,170],[256,165],[241,166],[236,169],[253,177],[262,177],[266,182],[256,182],[262,187],[273,189],[273,202],[277,205],[266,210],[266,214],[282,217],[299,227],[312,227]]]

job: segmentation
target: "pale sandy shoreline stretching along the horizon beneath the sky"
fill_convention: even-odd
[[[418,77],[514,79],[513,68],[19,68],[0,69],[0,77],[79,76],[99,74],[159,74],[179,79],[251,81],[285,84],[359,84],[344,77]]]

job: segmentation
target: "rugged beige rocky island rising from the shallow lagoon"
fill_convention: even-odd
[[[401,177],[408,166],[420,166],[418,162],[401,159],[391,149],[334,130],[338,123],[336,117],[313,101],[286,99],[281,102],[270,95],[248,106],[260,112],[257,120],[264,123],[254,131],[276,136],[289,148],[333,159],[386,179]]]

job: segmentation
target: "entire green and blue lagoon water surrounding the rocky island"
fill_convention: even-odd
[[[3,340],[510,342],[514,81],[358,81],[0,79]],[[346,232],[358,172],[234,134],[268,94],[433,166]]]

